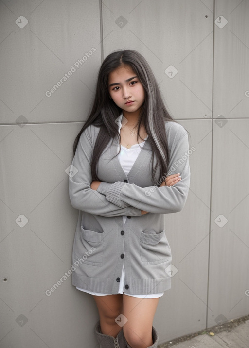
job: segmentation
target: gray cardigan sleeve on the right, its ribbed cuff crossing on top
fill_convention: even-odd
[[[174,139],[172,139],[174,138]],[[125,207],[129,204],[133,207],[145,210],[149,213],[176,213],[183,209],[190,185],[189,144],[188,133],[178,125],[176,136],[171,134],[170,161],[168,175],[180,173],[181,180],[174,186],[140,187],[133,183],[102,182],[98,192],[106,195],[109,202]]]

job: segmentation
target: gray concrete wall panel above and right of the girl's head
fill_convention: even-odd
[[[176,118],[212,117],[212,0],[107,0],[103,37],[105,56],[117,49],[144,55]]]

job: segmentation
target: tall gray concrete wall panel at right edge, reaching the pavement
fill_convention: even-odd
[[[209,327],[249,312],[248,130],[248,119],[213,124]]]

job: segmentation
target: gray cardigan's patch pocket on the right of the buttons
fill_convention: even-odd
[[[165,230],[160,233],[141,233],[140,256],[142,265],[157,265],[171,261],[171,249]]]

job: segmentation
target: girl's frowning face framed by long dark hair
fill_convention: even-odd
[[[109,95],[114,103],[125,113],[140,112],[145,92],[136,73],[130,66],[124,65],[109,73]]]

